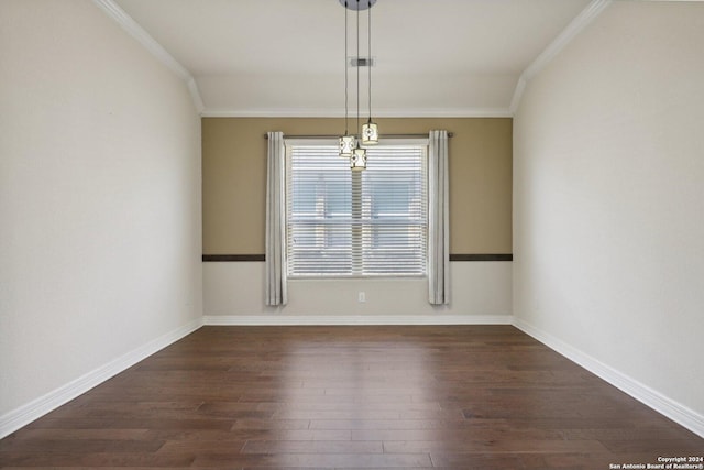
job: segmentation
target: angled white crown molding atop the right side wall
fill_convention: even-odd
[[[530,63],[520,74],[514,96],[510,100],[509,111],[515,114],[528,81],[542,70],[554,57],[558,56],[587,25],[590,25],[613,0],[592,0],[584,10],[580,12],[558,36]]]

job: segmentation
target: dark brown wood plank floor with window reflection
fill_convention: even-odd
[[[594,470],[703,453],[509,326],[205,327],[0,440],[2,468]]]

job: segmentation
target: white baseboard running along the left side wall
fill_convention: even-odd
[[[67,384],[20,406],[19,408],[6,413],[0,416],[0,439],[70,402],[75,397],[88,392],[90,389],[94,389],[108,379],[131,368],[141,360],[152,356],[161,349],[164,349],[173,342],[178,341],[183,337],[190,335],[201,326],[201,318],[193,320],[174,331],[156,338],[155,340],[150,341],[146,345],[141,346],[85,375],[81,375]]]

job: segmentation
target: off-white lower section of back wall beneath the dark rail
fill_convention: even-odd
[[[266,307],[263,262],[204,263],[206,323],[510,323],[510,264],[452,262],[449,306],[428,304],[424,278],[358,278],[289,280],[288,304]]]

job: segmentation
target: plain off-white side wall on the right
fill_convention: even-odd
[[[704,3],[614,2],[514,122],[514,315],[704,431]],[[698,420],[697,420],[698,419]]]

